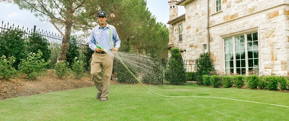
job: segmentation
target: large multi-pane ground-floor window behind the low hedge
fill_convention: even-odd
[[[243,34],[224,39],[225,72],[259,74],[258,33]]]

